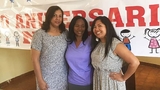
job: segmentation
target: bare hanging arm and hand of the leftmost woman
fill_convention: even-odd
[[[41,73],[41,68],[40,68],[40,63],[39,63],[39,57],[40,57],[40,51],[37,51],[35,49],[32,49],[32,62],[33,62],[33,68],[35,72],[35,76],[37,78],[40,90],[47,90],[48,86],[43,80],[42,73]]]

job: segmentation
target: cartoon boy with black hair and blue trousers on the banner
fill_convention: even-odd
[[[131,34],[131,31],[129,29],[123,29],[121,32],[120,32],[120,35],[122,37],[122,41],[123,43],[126,45],[126,47],[131,50],[131,44],[130,44],[130,40],[132,38],[134,38],[135,36],[133,36]]]

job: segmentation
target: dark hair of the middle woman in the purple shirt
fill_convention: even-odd
[[[73,19],[71,20],[71,22],[69,24],[69,33],[68,33],[67,39],[69,40],[70,43],[72,43],[73,41],[76,40],[76,34],[74,33],[74,26],[75,26],[77,20],[79,20],[79,19],[82,19],[85,23],[85,31],[82,36],[83,43],[88,38],[88,23],[87,23],[86,19],[81,16],[75,16],[75,17],[73,17]]]

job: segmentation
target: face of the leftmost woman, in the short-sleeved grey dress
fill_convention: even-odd
[[[51,19],[51,26],[52,27],[59,27],[59,25],[62,23],[62,11],[61,10],[57,10],[55,11],[52,19]]]

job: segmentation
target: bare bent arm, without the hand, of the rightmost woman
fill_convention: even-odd
[[[117,45],[114,53],[121,57],[126,63],[128,63],[128,69],[124,75],[121,75],[119,81],[126,81],[132,74],[135,73],[136,69],[138,68],[140,62],[135,55],[128,48],[120,43]]]

